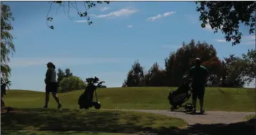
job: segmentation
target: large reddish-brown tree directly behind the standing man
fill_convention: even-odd
[[[192,39],[189,44],[183,43],[177,52],[172,53],[169,59],[165,60],[165,69],[167,69],[167,86],[179,86],[184,74],[187,74],[190,67],[193,66],[195,58],[200,58],[204,66],[210,71],[211,75],[217,74],[217,66],[220,66],[220,60],[217,58],[217,51],[211,44],[205,41],[195,41]]]

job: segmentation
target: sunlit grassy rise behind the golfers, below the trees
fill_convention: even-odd
[[[169,109],[167,87],[107,88],[98,89],[102,109]],[[207,88],[206,111],[255,111],[255,89]],[[58,94],[64,109],[77,109],[77,100],[84,90]],[[4,96],[7,106],[39,108],[44,105],[44,92],[8,90]],[[191,102],[191,100],[189,100]],[[199,105],[198,105],[199,106]],[[49,108],[56,108],[51,97]]]

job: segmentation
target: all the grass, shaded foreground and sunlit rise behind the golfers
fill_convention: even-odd
[[[13,108],[1,113],[1,134],[161,134],[184,129],[182,119],[159,114],[123,111],[121,109],[168,110],[167,87],[134,87],[97,89],[101,110],[78,109],[77,100],[84,90],[59,93],[62,109],[56,109],[51,97],[49,109],[44,92],[7,90],[4,101]],[[210,111],[255,111],[255,89],[207,88],[205,109]],[[189,100],[190,102],[190,100]],[[109,109],[120,109],[109,110]]]

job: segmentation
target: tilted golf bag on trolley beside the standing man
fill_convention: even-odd
[[[179,109],[179,107],[186,102],[192,94],[192,87],[190,80],[183,81],[182,85],[176,91],[169,92],[169,104],[171,105],[171,111],[174,109]],[[184,109],[186,111],[192,111],[192,104],[185,104]]]

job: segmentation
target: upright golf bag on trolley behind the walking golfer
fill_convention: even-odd
[[[89,109],[92,106],[94,106],[95,109],[100,109],[101,104],[98,102],[96,89],[101,87],[104,81],[99,82],[99,79],[95,76],[94,78],[87,79],[86,82],[87,87],[85,88],[84,93],[79,96],[78,99],[79,109]],[[94,92],[96,96],[96,101],[93,100]]]

